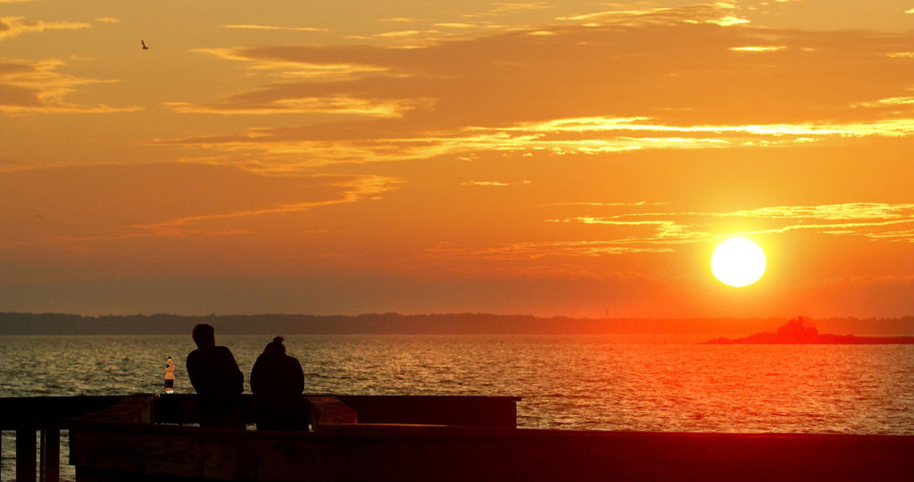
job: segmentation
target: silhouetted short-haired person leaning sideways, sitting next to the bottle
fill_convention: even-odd
[[[200,426],[243,429],[239,408],[244,374],[238,362],[230,349],[216,346],[213,327],[197,325],[193,337],[197,349],[187,355],[186,367],[187,376],[200,395]]]

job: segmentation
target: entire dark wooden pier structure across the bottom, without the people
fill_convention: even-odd
[[[312,430],[273,432],[193,426],[194,395],[0,399],[0,428],[16,430],[20,482],[36,478],[37,429],[57,479],[61,427],[80,482],[914,477],[914,436],[517,429],[519,400],[303,395]]]

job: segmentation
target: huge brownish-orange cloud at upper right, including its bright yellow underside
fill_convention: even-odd
[[[200,50],[284,81],[213,102],[167,104],[180,112],[364,119],[153,142],[272,160],[307,153],[307,163],[326,165],[480,152],[842,145],[914,134],[914,115],[898,109],[909,102],[909,65],[889,57],[906,51],[914,34],[708,23],[732,10],[715,4],[604,11],[552,26],[464,33],[420,48]],[[838,79],[841,88],[824,87]]]

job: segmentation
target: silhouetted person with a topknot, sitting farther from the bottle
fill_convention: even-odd
[[[285,354],[282,337],[275,337],[250,370],[258,430],[308,430],[302,400],[304,374],[298,359]]]

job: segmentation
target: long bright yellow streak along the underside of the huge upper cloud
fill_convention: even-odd
[[[353,105],[358,104],[354,102]],[[400,110],[390,109],[384,112],[395,115],[396,112],[406,110],[405,107],[401,107]],[[335,141],[296,139],[305,134],[304,130],[268,128],[251,129],[247,134],[239,135],[161,139],[152,142],[164,145],[205,146],[229,152],[263,152],[271,155],[283,152],[308,153],[309,165],[317,166],[428,159],[441,155],[493,151],[605,155],[644,150],[722,149],[743,148],[747,145],[764,147],[826,141],[844,142],[848,138],[905,137],[914,134],[914,119],[847,124],[768,125],[664,125],[649,121],[649,118],[556,119],[505,127],[467,127],[455,132],[419,133],[413,137]],[[314,129],[311,134],[319,135],[320,130]]]

